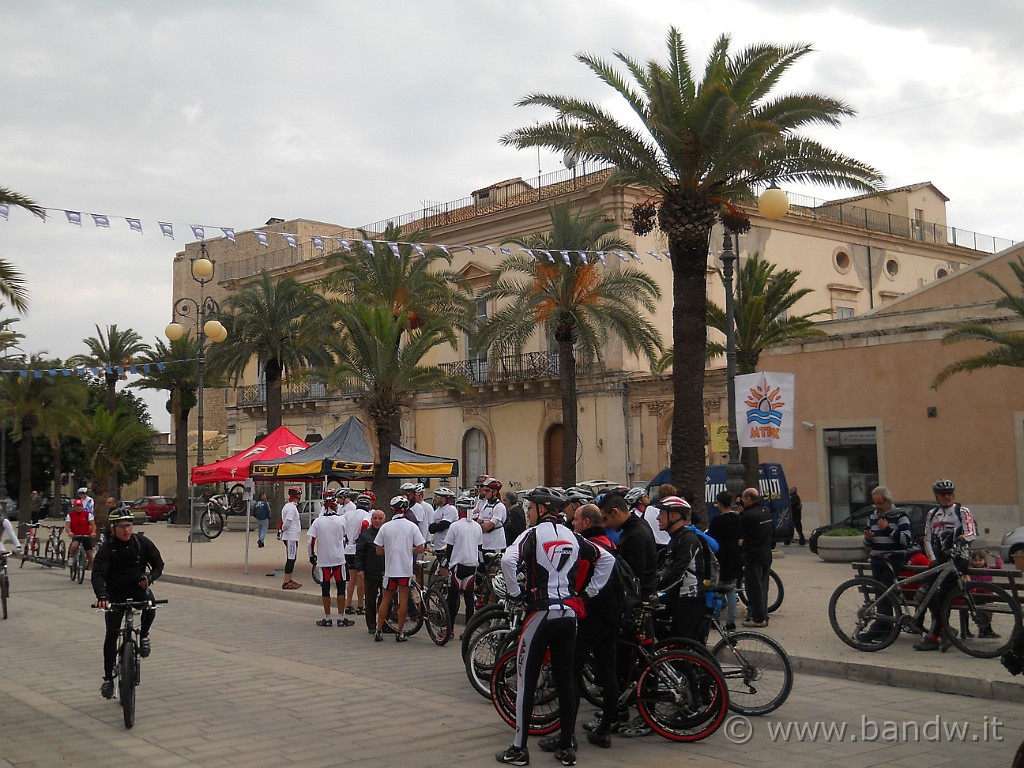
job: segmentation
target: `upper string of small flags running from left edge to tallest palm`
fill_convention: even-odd
[[[83,216],[90,218],[92,220],[92,223],[96,227],[103,228],[103,229],[111,229],[111,221],[112,221],[112,219],[119,218],[119,217],[112,217],[112,216],[109,216],[106,214],[101,214],[101,213],[83,213],[81,211],[72,211],[72,210],[62,209],[62,208],[43,208],[43,209],[40,210],[40,212],[36,213],[36,215],[40,219],[42,219],[44,222],[46,222],[46,221],[49,220],[48,216],[47,216],[47,213],[51,212],[51,211],[52,212],[63,213],[65,218],[67,219],[67,221],[68,221],[69,224],[72,224],[73,226],[78,226],[80,228],[83,227],[83,223],[82,223],[83,222]],[[9,221],[9,217],[10,217],[10,206],[8,204],[6,204],[6,203],[0,204],[0,218],[2,218],[4,221]],[[124,221],[127,222],[128,228],[131,231],[138,232],[139,234],[143,233],[142,220],[141,219],[132,218],[132,217],[128,217],[128,216],[120,217],[120,218],[123,218]],[[171,240],[174,240],[174,226],[175,225],[174,225],[173,222],[170,222],[170,221],[158,221],[157,224],[158,224],[158,227],[160,228],[160,233],[162,236],[164,236],[165,238],[170,238]],[[190,229],[191,234],[195,238],[195,240],[197,240],[199,242],[205,242],[206,241],[206,233],[207,233],[208,229],[218,229],[221,232],[221,234],[223,236],[224,240],[226,240],[228,243],[230,243],[233,246],[238,245],[237,231],[236,231],[236,229],[233,227],[230,227],[230,226],[209,226],[209,225],[206,225],[206,224],[188,224],[188,228]],[[271,245],[272,245],[271,241],[270,241],[271,237],[281,238],[284,241],[284,246],[287,247],[287,248],[292,248],[292,249],[298,250],[299,245],[300,245],[300,238],[299,238],[299,236],[297,236],[297,234],[295,234],[293,232],[266,231],[266,230],[262,230],[262,229],[252,229],[252,230],[245,230],[245,231],[247,231],[247,232],[251,231],[252,234],[256,238],[257,245],[259,245],[262,248],[266,248],[266,249],[269,249],[271,247]],[[335,236],[331,236],[331,234],[313,234],[313,236],[310,236],[308,238],[308,244],[317,253],[326,253],[329,250],[328,246],[326,245],[326,241],[329,241],[329,240],[330,241],[334,241],[337,244],[337,247],[339,249],[347,251],[349,253],[352,252],[352,242],[350,240],[346,239],[346,238],[343,238],[343,237],[340,237],[340,236],[337,236],[337,234],[335,234]],[[306,239],[302,239],[302,243],[306,243]],[[390,251],[395,256],[395,258],[400,258],[400,255],[401,255],[400,254],[400,247],[402,247],[402,246],[409,246],[410,248],[413,249],[413,251],[418,256],[421,256],[421,257],[426,257],[427,256],[427,249],[436,249],[436,250],[439,250],[439,251],[443,252],[445,255],[447,255],[449,257],[452,256],[452,252],[453,251],[468,251],[471,255],[475,256],[476,252],[478,250],[489,251],[492,256],[498,256],[499,253],[501,253],[503,256],[512,256],[513,255],[513,249],[509,248],[507,246],[499,246],[497,248],[497,250],[496,250],[495,247],[488,246],[488,245],[473,245],[473,246],[470,246],[470,245],[461,245],[461,244],[447,244],[447,245],[445,245],[445,244],[442,244],[442,243],[406,243],[406,242],[402,242],[402,241],[378,241],[378,240],[370,240],[370,239],[357,241],[357,244],[361,245],[364,248],[366,248],[367,250],[369,250],[371,252],[376,252],[376,246],[383,246],[388,251]],[[579,249],[572,249],[572,250],[566,249],[566,250],[562,250],[562,249],[557,249],[557,248],[551,249],[551,250],[547,250],[547,249],[544,249],[544,248],[529,249],[529,248],[521,248],[521,247],[518,247],[518,246],[516,247],[516,250],[518,250],[519,253],[525,254],[526,256],[528,256],[534,261],[538,261],[539,260],[539,257],[538,257],[537,254],[540,253],[540,254],[542,254],[543,256],[545,256],[547,258],[548,263],[550,263],[550,264],[557,263],[556,259],[555,259],[555,256],[553,255],[553,253],[557,253],[559,256],[561,256],[561,261],[564,262],[564,264],[566,266],[573,266],[574,264],[600,263],[602,266],[606,267],[608,265],[608,262],[607,262],[607,260],[606,260],[605,257],[606,257],[606,255],[608,253],[613,253],[615,256],[618,257],[620,261],[622,261],[622,262],[630,263],[632,261],[632,262],[636,262],[637,264],[639,264],[641,266],[643,265],[643,260],[641,259],[640,255],[636,251],[626,251],[626,252],[624,252],[624,251],[611,251],[611,252],[606,252],[606,251],[584,251],[584,250],[579,250]],[[668,251],[646,251],[646,254],[648,256],[650,256],[651,258],[653,258],[655,261],[658,261],[658,262],[662,262],[665,259],[668,259],[670,262],[672,260],[671,259],[671,255],[669,254]]]

